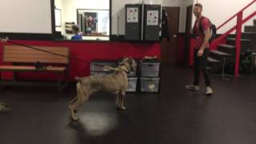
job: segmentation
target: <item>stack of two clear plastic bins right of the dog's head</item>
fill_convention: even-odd
[[[141,92],[158,92],[159,91],[159,70],[160,62],[158,60],[141,60]]]

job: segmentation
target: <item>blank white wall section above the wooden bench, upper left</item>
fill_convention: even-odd
[[[51,34],[50,0],[0,0],[0,32]]]

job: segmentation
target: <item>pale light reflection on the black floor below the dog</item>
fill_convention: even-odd
[[[68,126],[75,131],[78,143],[98,142],[100,141],[98,138],[105,137],[118,129],[119,113],[119,111],[112,110],[80,111],[80,119],[70,121]]]

